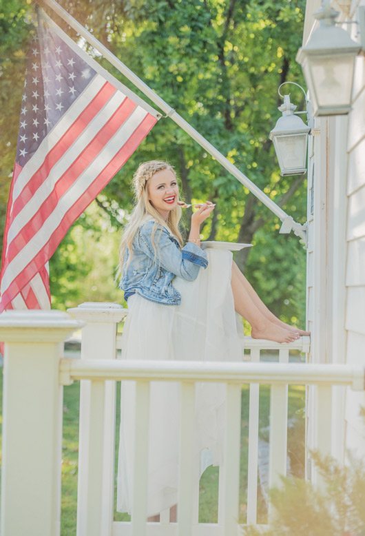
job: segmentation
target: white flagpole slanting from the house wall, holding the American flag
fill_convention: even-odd
[[[61,17],[67,24],[71,26],[77,33],[79,33],[92,47],[94,47],[101,55],[107,59],[119,72],[124,74],[128,80],[130,80],[138,89],[151,99],[159,108],[166,113],[165,117],[171,118],[179,127],[181,127],[191,138],[193,138],[201,147],[203,147],[213,158],[216,159],[229,173],[235,176],[240,183],[246,186],[254,196],[256,196],[264,205],[266,205],[271,212],[273,212],[280,220],[282,220],[282,226],[280,227],[280,233],[293,233],[299,236],[306,243],[306,224],[295,222],[292,216],[286,214],[282,208],[280,208],[274,201],[269,198],[260,188],[258,188],[250,179],[240,172],[235,165],[220,153],[216,147],[211,145],[207,139],[199,134],[194,127],[191,127],[183,117],[181,117],[174,108],[168,105],[158,94],[154,92],[147,84],[145,84],[132,70],[127,68],[120,59],[118,59],[110,50],[108,50],[103,43],[98,41],[83,25],[81,25],[74,17],[72,17],[65,9],[59,6],[54,0],[36,0],[40,6],[48,6],[52,11]]]

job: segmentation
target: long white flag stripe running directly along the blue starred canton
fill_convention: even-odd
[[[17,177],[13,189],[13,203],[18,198],[19,194],[21,194],[23,187],[25,187],[36,170],[39,169],[50,150],[52,150],[54,145],[59,142],[63,134],[67,132],[72,123],[76,121],[81,112],[85,110],[85,107],[87,107],[90,101],[94,99],[104,84],[105,80],[102,76],[99,76],[98,74],[94,76],[92,82],[85,87],[85,90],[83,90],[81,95],[74,101],[74,103],[72,103],[67,110],[67,113],[61,117],[60,121],[54,125],[50,133],[45,136],[41,145],[39,145],[34,153],[34,156],[28,160]]]

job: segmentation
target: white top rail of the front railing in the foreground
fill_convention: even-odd
[[[346,364],[61,359],[61,382],[169,380],[261,384],[349,385],[364,390],[364,367]]]

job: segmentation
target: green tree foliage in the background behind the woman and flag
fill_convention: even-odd
[[[253,183],[295,220],[304,223],[305,176],[280,177],[268,139],[279,116],[278,86],[286,80],[303,84],[294,59],[301,44],[304,0],[63,0],[60,3]],[[8,30],[1,51],[6,51],[9,57],[20,54],[23,61],[27,33],[25,8],[15,0],[6,6],[9,6],[4,16]],[[63,21],[57,17],[56,21],[74,37]],[[17,37],[12,34],[12,23],[21,30]],[[101,62],[156,107],[107,61]],[[12,71],[14,67],[6,69],[9,70],[2,72],[0,84],[3,99],[9,101],[4,121],[12,127],[0,139],[4,155],[2,184],[9,181],[12,169],[21,100],[19,74]],[[296,91],[293,100],[298,102],[301,97]],[[300,107],[301,103],[298,104]],[[302,243],[293,235],[280,235],[278,218],[170,118],[158,121],[98,197],[98,207],[108,215],[110,225],[117,229],[127,218],[133,203],[130,181],[134,169],[152,158],[174,165],[187,201],[210,199],[216,203],[214,217],[202,229],[205,238],[255,245],[237,255],[241,269],[275,314],[286,320],[298,318],[303,323],[305,251]],[[3,210],[3,199],[0,204]],[[189,211],[186,220],[189,222]],[[56,279],[61,277],[62,270],[72,271],[66,261],[70,256],[67,240],[70,238],[51,261]],[[82,249],[74,254],[83,257]],[[65,262],[61,262],[62,256]],[[81,289],[83,277],[78,276],[78,267],[76,263],[72,277],[75,288],[79,278],[81,298],[87,289]],[[112,276],[109,284],[114,285]],[[57,304],[61,301],[59,292],[60,287],[52,288]],[[75,290],[74,300],[77,299]]]

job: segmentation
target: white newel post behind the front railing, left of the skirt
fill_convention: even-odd
[[[127,309],[116,303],[86,302],[67,312],[85,323],[81,359],[116,358],[116,327]],[[116,385],[80,383],[77,536],[109,536],[114,513]]]

